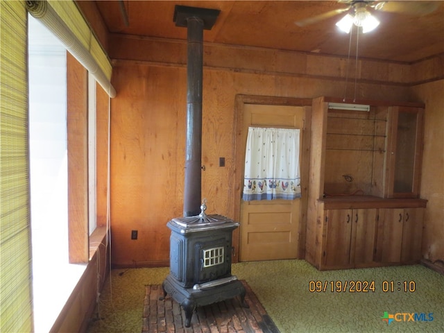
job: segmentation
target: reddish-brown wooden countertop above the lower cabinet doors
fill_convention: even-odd
[[[379,198],[377,196],[327,196],[318,199],[324,210],[353,208],[409,208],[426,207],[427,200],[420,198]]]

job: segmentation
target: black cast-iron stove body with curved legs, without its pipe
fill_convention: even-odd
[[[172,219],[170,273],[162,287],[185,311],[189,327],[193,311],[240,296],[246,305],[244,285],[231,275],[232,230],[239,226],[221,215],[206,215],[205,200],[198,216]]]

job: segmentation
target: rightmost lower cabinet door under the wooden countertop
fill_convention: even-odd
[[[401,251],[401,261],[404,263],[419,262],[422,257],[423,216],[423,208],[404,208]]]

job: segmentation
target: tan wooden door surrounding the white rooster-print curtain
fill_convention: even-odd
[[[305,256],[305,217],[311,100],[237,97],[236,169],[239,184],[239,261],[296,259]],[[307,105],[309,104],[309,105]],[[240,118],[240,119],[239,119]],[[301,198],[295,200],[241,199],[248,127],[300,129]],[[235,204],[236,207],[236,204]],[[235,239],[234,239],[235,241]]]

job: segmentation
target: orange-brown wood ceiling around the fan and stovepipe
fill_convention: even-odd
[[[348,4],[341,1],[95,1],[109,33],[186,40],[187,29],[173,22],[174,6],[221,10],[204,42],[259,46],[302,52],[348,56],[350,35],[335,23],[345,15],[323,19],[300,27],[296,21],[313,17]],[[377,1],[366,1],[374,4]],[[378,1],[381,2],[381,1]],[[412,3],[432,3],[432,12],[420,13]],[[128,15],[123,19],[121,5]],[[392,8],[390,8],[392,6]],[[444,1],[387,1],[387,10],[373,10],[379,26],[359,34],[359,58],[395,62],[416,62],[444,53]],[[407,12],[405,12],[407,11]],[[351,38],[351,56],[356,56],[356,33]]]

